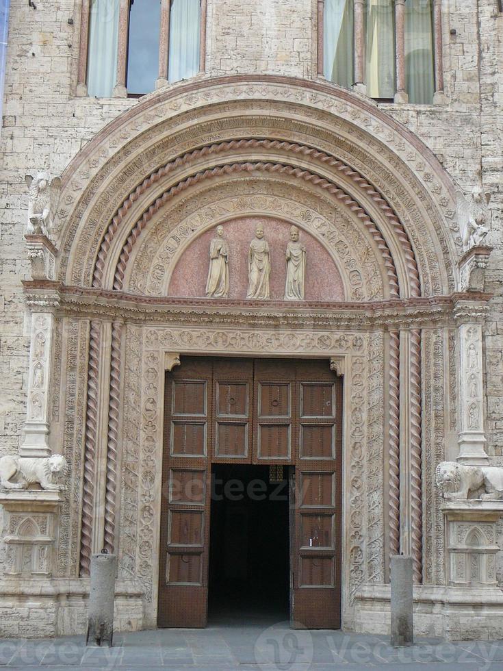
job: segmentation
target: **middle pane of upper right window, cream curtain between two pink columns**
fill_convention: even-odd
[[[367,0],[367,95],[395,95],[395,7],[391,0]]]

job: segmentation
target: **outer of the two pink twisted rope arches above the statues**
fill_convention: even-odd
[[[111,222],[105,231],[105,236],[101,241],[100,249],[96,262],[94,265],[92,286],[101,287],[103,281],[103,269],[105,268],[105,261],[107,254],[112,244],[114,235],[122,222],[122,219],[127,214],[127,211],[132,207],[138,198],[146,192],[154,183],[159,181],[165,175],[172,172],[173,170],[190,164],[190,162],[197,160],[198,158],[205,157],[208,155],[216,155],[224,151],[229,150],[238,150],[238,149],[257,149],[257,148],[267,149],[267,150],[282,150],[289,151],[295,154],[302,154],[304,157],[308,157],[310,160],[318,160],[323,164],[329,165],[339,172],[346,175],[346,177],[352,179],[354,183],[363,190],[367,196],[369,196],[376,206],[383,212],[384,216],[389,220],[391,227],[396,233],[400,245],[402,246],[402,251],[404,251],[404,257],[407,264],[407,272],[409,274],[409,281],[411,282],[411,295],[420,296],[420,279],[419,271],[417,269],[417,262],[415,260],[415,255],[411,246],[409,237],[407,236],[406,231],[402,227],[402,223],[398,218],[398,215],[394,212],[391,205],[383,198],[383,196],[370,184],[363,175],[358,173],[356,170],[350,168],[346,164],[337,160],[333,155],[318,151],[312,147],[306,147],[305,145],[296,144],[292,142],[283,142],[280,140],[231,140],[228,142],[220,142],[218,144],[207,145],[201,149],[195,149],[194,151],[188,152],[182,156],[177,157],[175,160],[168,162],[166,165],[162,166],[154,173],[151,173],[149,177],[146,177],[144,181],[133,190],[129,196],[122,201],[120,207],[116,211],[116,214],[112,217]],[[190,186],[190,185],[188,185]]]

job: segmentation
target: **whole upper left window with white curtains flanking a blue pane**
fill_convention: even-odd
[[[79,66],[77,88],[135,96],[193,77],[204,69],[205,17],[206,0],[83,0],[87,67]]]

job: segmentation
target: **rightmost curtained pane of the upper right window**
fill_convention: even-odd
[[[405,2],[405,86],[409,103],[433,102],[433,1]]]

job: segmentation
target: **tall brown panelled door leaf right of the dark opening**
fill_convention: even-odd
[[[341,626],[341,391],[326,362],[296,365],[291,617],[309,629]]]

